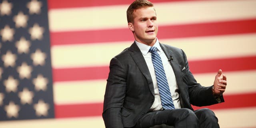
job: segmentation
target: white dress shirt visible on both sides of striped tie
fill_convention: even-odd
[[[150,110],[151,111],[162,110],[161,98],[160,98],[160,94],[159,94],[159,90],[158,90],[158,86],[157,86],[157,82],[156,82],[156,74],[155,74],[153,62],[151,59],[151,53],[148,52],[151,46],[142,44],[137,41],[135,41],[135,43],[137,44],[137,46],[140,48],[140,51],[142,52],[142,55],[146,61],[146,64],[148,66],[148,70],[150,72],[150,75],[151,75],[151,78],[153,81],[153,85],[154,85],[155,101],[154,101],[153,105],[151,106]],[[161,60],[162,60],[163,66],[164,66],[164,72],[166,74],[167,82],[169,84],[170,92],[172,94],[172,100],[174,103],[174,107],[180,108],[179,94],[178,94],[178,92],[175,92],[175,90],[178,89],[178,86],[176,83],[176,78],[175,78],[175,74],[173,72],[172,66],[170,65],[170,62],[168,62],[168,58],[166,57],[166,55],[164,54],[164,51],[160,47],[158,39],[156,39],[156,43],[154,44],[154,47],[156,47],[158,49],[157,52],[161,57]]]

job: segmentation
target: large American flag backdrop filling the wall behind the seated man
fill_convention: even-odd
[[[134,41],[133,0],[0,0],[0,128],[104,128],[109,62]],[[256,128],[256,0],[151,0],[160,43],[204,86],[218,69],[221,128]],[[195,109],[199,107],[194,106]]]

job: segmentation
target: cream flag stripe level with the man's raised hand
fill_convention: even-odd
[[[195,74],[194,76],[200,84],[211,86],[216,74],[206,73]],[[228,86],[224,93],[225,95],[256,92],[256,70],[240,72],[224,71],[224,74],[228,77]],[[246,82],[246,85],[244,85],[244,80],[249,80]],[[241,86],[243,87],[241,88]],[[53,87],[55,104],[103,102],[106,80],[55,82]]]

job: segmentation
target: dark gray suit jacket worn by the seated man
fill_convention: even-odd
[[[160,46],[167,58],[173,57],[170,63],[176,76],[182,108],[193,110],[190,104],[208,106],[218,103],[212,95],[212,86],[204,87],[196,82],[181,49],[165,44]],[[182,70],[184,67],[185,70]],[[224,102],[223,97],[221,100]],[[106,128],[133,127],[148,112],[153,102],[152,78],[134,42],[110,61],[102,114]]]

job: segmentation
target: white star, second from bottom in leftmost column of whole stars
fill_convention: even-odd
[[[4,80],[4,86],[6,92],[16,92],[19,81],[14,79],[12,76],[9,76],[7,80]]]

